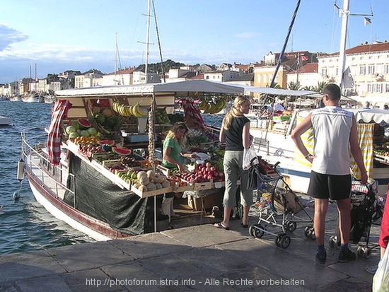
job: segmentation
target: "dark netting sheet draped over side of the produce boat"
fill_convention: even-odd
[[[108,223],[113,230],[138,235],[153,230],[152,199],[141,199],[133,192],[113,185],[80,158],[69,156],[69,170],[74,174],[76,198],[66,192],[64,201],[79,211]],[[69,189],[73,189],[71,180]]]

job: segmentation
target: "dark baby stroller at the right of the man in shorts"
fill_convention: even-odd
[[[377,203],[377,189],[378,184],[375,180],[367,185],[361,185],[356,180],[352,182],[350,243],[357,244],[364,238],[365,244],[359,245],[356,253],[365,259],[368,259],[371,250],[378,246],[369,247],[371,224],[378,220],[379,214],[382,216],[381,206]],[[335,235],[330,237],[329,245],[330,247],[340,247],[339,216]]]

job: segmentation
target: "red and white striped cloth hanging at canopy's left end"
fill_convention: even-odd
[[[47,148],[50,162],[54,165],[59,164],[59,160],[61,160],[61,122],[62,119],[66,119],[70,107],[69,100],[57,100],[52,105],[52,120],[47,137]]]

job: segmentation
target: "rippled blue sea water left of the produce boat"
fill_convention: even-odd
[[[21,132],[45,142],[52,104],[0,101],[0,115],[11,117],[0,127],[0,255],[93,241],[59,221],[36,202],[25,177],[16,177],[21,158]],[[41,138],[40,138],[41,137]],[[20,194],[13,199],[13,193]]]

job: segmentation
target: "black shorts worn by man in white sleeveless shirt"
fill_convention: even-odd
[[[352,190],[351,175],[323,175],[310,172],[308,195],[316,199],[347,199]]]

